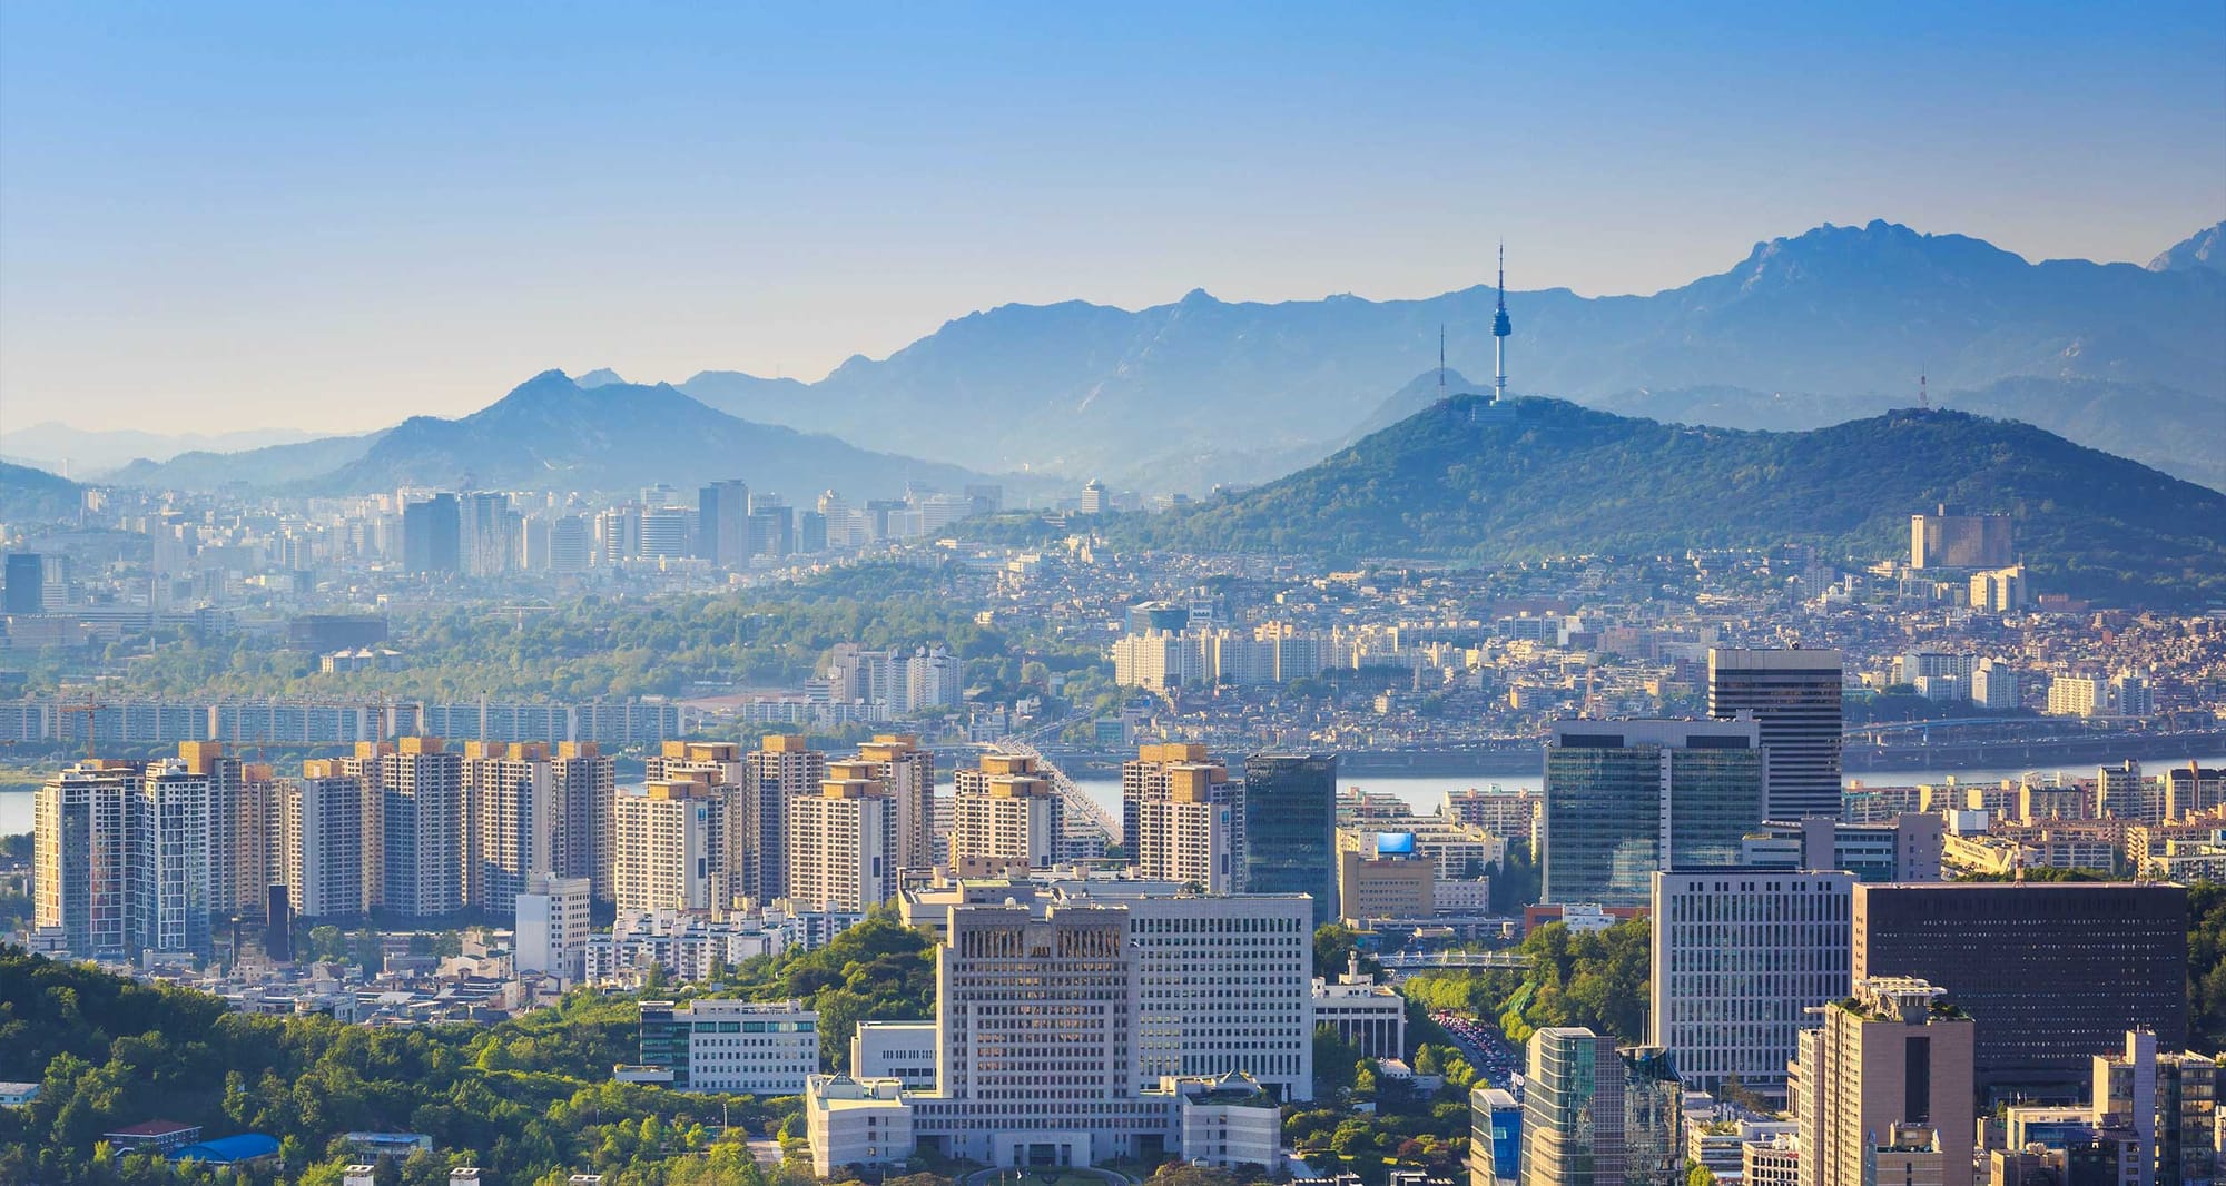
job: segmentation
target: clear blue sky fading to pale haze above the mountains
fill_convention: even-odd
[[[0,427],[817,378],[1496,236],[1605,294],[1828,220],[2146,263],[2226,216],[2219,0],[1796,7],[0,0]]]

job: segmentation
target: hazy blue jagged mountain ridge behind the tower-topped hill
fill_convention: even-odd
[[[1162,456],[1195,456],[1198,443],[1242,438],[1229,452],[1255,456],[1340,443],[1382,392],[1436,360],[1440,327],[1449,363],[1489,372],[1496,298],[1471,285],[1382,303],[1222,303],[1204,289],[1135,312],[1008,303],[884,360],[853,356],[819,383],[703,372],[681,389],[861,443],[902,425],[908,447],[930,456],[1122,481]],[[1725,271],[1649,296],[1534,289],[1507,303],[1511,387],[1580,403],[1687,387],[1792,392],[1830,405],[1830,421],[1908,403],[1921,374],[1941,392],[2048,378],[2226,398],[2215,334],[2226,274],[2030,263],[1981,238],[1883,220],[1763,240]],[[2035,414],[2046,423],[2055,409]],[[2222,425],[2161,427],[2226,454]],[[1200,474],[1198,485],[1255,476]]]

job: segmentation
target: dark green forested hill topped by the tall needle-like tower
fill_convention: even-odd
[[[2015,516],[2039,590],[2112,605],[2226,599],[2226,494],[2032,425],[1901,409],[1812,432],[1685,427],[1456,396],[1258,490],[1135,521],[1135,543],[1440,556],[1816,543],[1908,550],[1910,514]]]

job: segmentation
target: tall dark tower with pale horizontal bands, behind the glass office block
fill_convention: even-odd
[[[1836,650],[1710,648],[1707,714],[1761,725],[1770,819],[1839,814],[1839,696]]]

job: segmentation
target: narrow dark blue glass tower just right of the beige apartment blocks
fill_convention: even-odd
[[[1244,759],[1244,892],[1313,895],[1338,917],[1338,754]]]

